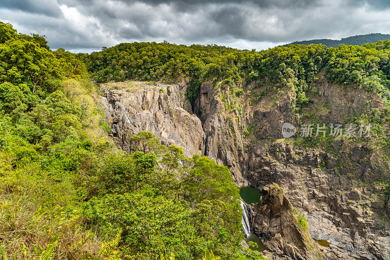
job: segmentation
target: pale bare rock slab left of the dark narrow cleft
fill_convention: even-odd
[[[203,155],[206,136],[202,124],[185,100],[186,84],[144,85],[112,89],[102,85],[107,122],[119,147],[129,150],[129,138],[139,131],[150,131],[164,145],[176,144],[185,155]],[[162,91],[163,90],[163,91]]]

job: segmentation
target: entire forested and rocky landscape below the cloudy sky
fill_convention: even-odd
[[[390,258],[390,40],[89,55],[0,33],[4,259]]]

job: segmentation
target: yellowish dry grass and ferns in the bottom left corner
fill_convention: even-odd
[[[101,241],[77,210],[60,206],[41,209],[29,195],[0,196],[0,252],[7,259],[39,259],[54,241],[53,259],[81,260],[94,256]]]

